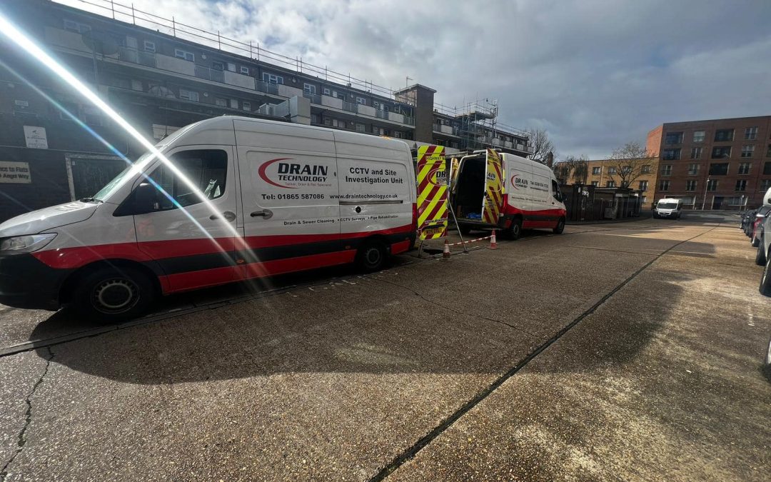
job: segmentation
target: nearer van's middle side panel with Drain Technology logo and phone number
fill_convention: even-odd
[[[234,125],[250,254],[246,277],[351,261],[341,253],[332,133],[247,120]]]

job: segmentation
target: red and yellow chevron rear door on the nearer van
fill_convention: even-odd
[[[447,232],[447,167],[443,146],[418,147],[418,231],[420,239]]]

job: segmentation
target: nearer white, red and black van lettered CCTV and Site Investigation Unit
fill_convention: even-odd
[[[222,116],[162,140],[91,198],[0,224],[0,303],[126,319],[157,294],[358,262],[415,241],[399,140]]]

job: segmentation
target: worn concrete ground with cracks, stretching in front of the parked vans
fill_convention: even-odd
[[[0,480],[768,480],[736,215],[455,250],[121,326],[0,307]]]

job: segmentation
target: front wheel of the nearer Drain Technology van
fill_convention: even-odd
[[[136,318],[155,299],[153,281],[136,268],[99,268],[77,281],[72,303],[95,322],[113,323]]]

